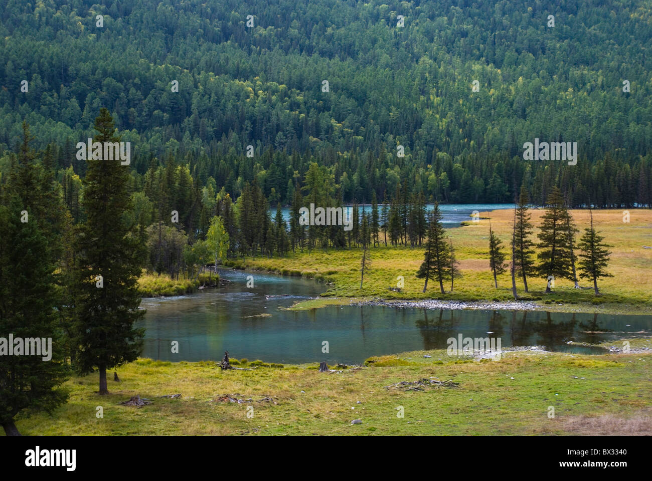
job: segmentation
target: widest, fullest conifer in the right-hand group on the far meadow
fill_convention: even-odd
[[[556,186],[546,200],[546,213],[541,217],[543,224],[539,237],[539,266],[537,270],[543,278],[572,280],[571,252],[567,231],[568,211],[563,197]],[[550,293],[550,282],[546,285],[546,293]]]

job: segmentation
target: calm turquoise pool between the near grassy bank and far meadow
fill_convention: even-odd
[[[603,353],[567,342],[603,340],[621,347],[627,334],[649,334],[650,315],[424,310],[381,306],[327,306],[287,311],[297,300],[324,290],[301,278],[221,270],[224,287],[168,298],[143,299],[144,357],[160,360],[219,360],[231,357],[267,362],[363,362],[372,355],[417,349],[445,349],[447,339],[499,337],[503,348],[544,345],[549,351]],[[253,276],[254,287],[246,287]],[[291,294],[291,295],[286,295]],[[257,317],[260,314],[269,314]],[[486,334],[492,332],[493,334]],[[171,353],[171,342],[179,353]],[[322,353],[323,342],[329,353]],[[651,343],[652,344],[652,343]]]

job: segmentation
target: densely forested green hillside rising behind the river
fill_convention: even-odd
[[[538,204],[554,185],[575,207],[651,203],[649,2],[383,1],[8,0],[0,172],[27,121],[74,197],[105,107],[132,192],[173,162],[196,189],[237,199],[256,179],[288,205],[316,162],[346,202],[511,202],[523,184]],[[577,142],[577,164],[524,160],[535,138]]]

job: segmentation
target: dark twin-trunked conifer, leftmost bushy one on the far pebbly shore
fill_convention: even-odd
[[[439,204],[435,203],[435,208],[430,212],[426,252],[424,252],[423,263],[419,267],[419,270],[417,270],[417,277],[425,278],[426,280],[423,284],[423,292],[426,292],[428,288],[428,280],[434,279],[439,282],[439,289],[444,294],[443,282],[448,280],[449,277],[451,255],[449,244],[446,242],[446,233],[441,224],[441,218]]]

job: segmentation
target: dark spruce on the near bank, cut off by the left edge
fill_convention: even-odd
[[[14,422],[18,413],[52,413],[68,398],[60,387],[67,366],[55,310],[61,226],[47,214],[57,209],[50,203],[57,197],[50,195],[48,169],[35,162],[30,140],[23,123],[18,163],[0,186],[0,425],[7,435],[20,435]]]

